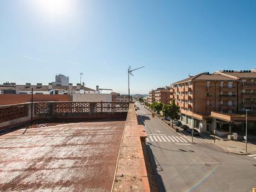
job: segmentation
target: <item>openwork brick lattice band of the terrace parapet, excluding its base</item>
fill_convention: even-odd
[[[33,111],[31,111],[33,109]],[[37,102],[0,106],[0,123],[32,117],[58,118],[58,117],[83,117],[94,114],[116,114],[127,112],[129,103],[125,102]]]

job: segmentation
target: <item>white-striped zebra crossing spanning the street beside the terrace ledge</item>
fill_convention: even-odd
[[[173,142],[173,143],[188,143],[188,140],[181,136],[168,135],[148,135],[147,142]]]

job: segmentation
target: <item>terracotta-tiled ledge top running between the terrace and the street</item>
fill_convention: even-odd
[[[138,125],[134,104],[130,104],[112,191],[150,191],[142,147],[146,137],[144,126]]]

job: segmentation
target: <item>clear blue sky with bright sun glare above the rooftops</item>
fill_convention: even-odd
[[[201,72],[256,68],[256,1],[1,0],[0,83],[145,94]]]

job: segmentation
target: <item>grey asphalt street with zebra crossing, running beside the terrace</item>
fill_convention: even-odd
[[[256,159],[226,153],[211,140],[195,144],[136,103],[160,191],[252,191]],[[201,141],[201,142],[200,142]]]

